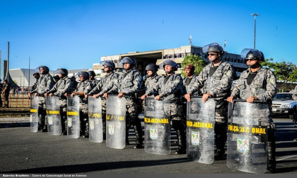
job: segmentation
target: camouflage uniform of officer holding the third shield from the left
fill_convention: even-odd
[[[79,82],[75,92],[83,92],[84,95],[79,95],[79,119],[81,134],[89,135],[89,116],[88,116],[88,98],[85,95],[88,94],[94,85],[90,80]]]

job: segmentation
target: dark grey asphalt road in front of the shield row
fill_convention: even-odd
[[[292,120],[274,118],[276,131],[277,171],[297,173],[297,128]],[[144,149],[133,149],[135,135],[130,133],[130,145],[112,149],[89,139],[70,139],[31,133],[29,128],[0,129],[0,173],[27,174],[246,174],[227,167],[226,160],[202,164],[187,160],[186,155],[154,155]],[[130,130],[132,131],[132,130]],[[172,134],[172,152],[176,136]],[[225,155],[226,157],[226,155]]]

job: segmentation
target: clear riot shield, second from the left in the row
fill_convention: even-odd
[[[61,115],[60,104],[58,96],[46,97],[46,117],[48,120],[48,134],[60,135],[62,134],[61,128]]]

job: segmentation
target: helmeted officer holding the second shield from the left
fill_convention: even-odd
[[[57,69],[53,72],[60,77],[60,80],[53,86],[51,90],[44,94],[45,97],[53,95],[59,96],[60,115],[62,124],[62,135],[67,135],[67,93],[72,93],[73,81],[67,77],[67,69]]]

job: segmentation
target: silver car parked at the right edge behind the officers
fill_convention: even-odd
[[[297,102],[293,100],[292,95],[293,93],[277,93],[272,100],[272,114],[297,119]]]

